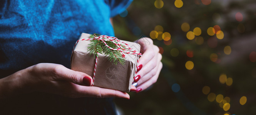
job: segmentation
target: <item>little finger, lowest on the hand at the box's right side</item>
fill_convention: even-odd
[[[146,81],[146,82],[142,83],[141,85],[139,85],[137,87],[136,93],[141,92],[141,91],[147,89],[152,84],[156,83],[156,81],[157,81],[157,79],[159,77],[161,69],[162,69],[162,63],[159,64],[159,67],[158,67],[156,75],[151,77],[148,81]]]

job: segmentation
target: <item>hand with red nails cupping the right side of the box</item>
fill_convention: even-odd
[[[134,82],[137,82],[136,92],[141,92],[157,81],[162,69],[162,55],[150,38],[141,38],[136,43],[141,45],[142,56],[139,58],[139,66]]]

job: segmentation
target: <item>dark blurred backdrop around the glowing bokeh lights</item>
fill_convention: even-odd
[[[177,8],[175,0],[134,0],[127,11],[114,18],[117,38],[135,41],[147,36],[159,46],[163,56],[163,69],[156,84],[143,92],[129,93],[130,100],[116,98],[119,112],[124,115],[256,114],[256,1],[182,0],[182,3]],[[187,38],[188,31],[181,29],[185,22],[189,24],[188,31],[201,29],[202,44],[196,42],[197,36]],[[155,29],[157,25],[163,31]],[[215,25],[223,31],[223,39],[216,37],[219,33],[207,34],[207,29]],[[157,39],[150,36],[154,30],[159,33]],[[162,39],[164,32],[170,33],[169,41]],[[224,53],[226,46],[230,46],[230,54]],[[178,50],[177,56],[171,54],[173,48]],[[187,61],[194,64],[191,70],[185,67]],[[222,84],[221,74],[226,74],[233,83],[229,86],[225,81],[230,81],[224,79]],[[206,94],[202,92],[204,86],[210,88]],[[210,93],[229,97],[230,108],[223,109],[222,98],[218,98],[220,103],[215,96],[210,101],[207,98]],[[247,99],[244,105],[240,104],[243,96]]]

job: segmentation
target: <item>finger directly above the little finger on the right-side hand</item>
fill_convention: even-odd
[[[137,84],[142,84],[143,82],[149,80],[152,76],[155,76],[157,73],[157,69],[159,64],[161,63],[162,55],[160,53],[157,54],[157,61],[151,61],[146,64],[145,68],[141,71],[137,72],[137,75],[140,75],[141,78],[137,81]],[[154,67],[154,68],[153,68]]]

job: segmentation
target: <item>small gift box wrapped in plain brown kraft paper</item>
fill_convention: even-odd
[[[119,43],[121,46],[128,45],[135,51],[131,52],[130,50],[128,54],[123,53],[125,51],[120,52],[125,54],[123,63],[113,63],[113,61],[109,61],[109,54],[99,53],[95,68],[96,58],[88,50],[91,43],[90,39],[92,39],[91,36],[90,34],[82,33],[75,44],[71,56],[71,69],[84,72],[92,77],[94,76],[94,86],[129,92],[136,74],[139,56],[134,52],[137,51],[136,53],[139,53],[141,46],[137,43],[120,40]]]

